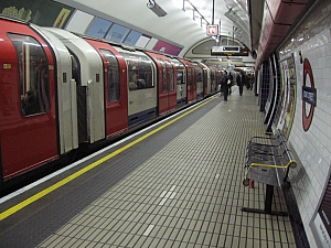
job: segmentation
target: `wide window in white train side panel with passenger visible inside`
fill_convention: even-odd
[[[150,58],[143,55],[121,52],[128,66],[129,90],[153,88],[153,69]]]

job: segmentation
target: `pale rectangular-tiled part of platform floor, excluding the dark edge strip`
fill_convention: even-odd
[[[289,217],[264,208],[265,185],[243,186],[246,143],[264,130],[256,97],[234,93],[40,247],[296,247]],[[273,211],[286,211],[276,188]]]

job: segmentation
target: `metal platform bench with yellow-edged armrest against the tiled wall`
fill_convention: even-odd
[[[249,180],[265,183],[265,209],[243,207],[242,211],[271,215],[287,215],[285,212],[273,212],[274,186],[281,186],[288,179],[290,168],[295,168],[291,151],[280,130],[266,136],[254,136],[248,141],[243,184],[249,185]]]

